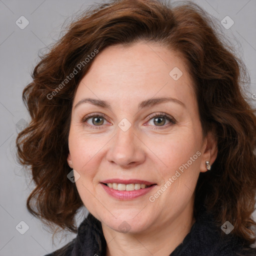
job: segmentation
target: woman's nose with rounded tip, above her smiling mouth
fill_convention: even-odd
[[[130,168],[145,160],[144,144],[134,133],[132,126],[126,131],[117,127],[116,134],[110,141],[106,158],[111,163]]]

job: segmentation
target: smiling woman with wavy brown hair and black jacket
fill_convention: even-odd
[[[111,1],[42,56],[17,137],[27,208],[77,231],[48,255],[256,255],[255,110],[213,25],[192,3]]]

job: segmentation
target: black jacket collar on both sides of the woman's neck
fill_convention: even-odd
[[[201,206],[190,232],[169,256],[256,256],[256,249],[242,248],[242,244],[242,240],[232,232],[225,234],[212,214]],[[57,250],[58,253],[45,256],[104,256],[105,250],[101,223],[89,213],[71,242]]]

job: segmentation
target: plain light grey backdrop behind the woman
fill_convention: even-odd
[[[62,23],[76,11],[87,8],[92,0],[0,0],[0,256],[44,255],[75,237],[56,239],[41,222],[26,210],[26,198],[34,187],[30,178],[16,163],[15,138],[29,121],[21,93],[31,81],[30,73],[39,60],[38,51],[58,38]],[[195,0],[218,22],[226,16],[234,24],[223,33],[231,40],[245,62],[251,78],[248,97],[256,103],[256,0]],[[29,24],[20,29],[15,21],[21,16]],[[230,24],[226,21],[227,25]],[[254,99],[253,99],[254,98]],[[84,217],[80,211],[76,221]],[[254,214],[256,215],[256,214]],[[29,229],[20,234],[16,225],[24,221]],[[60,236],[59,236],[60,237]],[[60,242],[59,242],[60,241]]]

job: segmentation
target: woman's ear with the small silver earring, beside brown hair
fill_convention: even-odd
[[[212,132],[208,132],[203,142],[202,157],[200,163],[200,172],[207,171],[205,161],[209,161],[210,165],[215,161],[218,153],[217,138]]]

